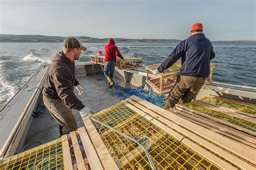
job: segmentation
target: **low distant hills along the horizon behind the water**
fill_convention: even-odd
[[[0,34],[0,43],[62,43],[66,37],[43,35],[4,35]],[[109,38],[78,36],[82,43],[107,43]],[[179,39],[127,39],[114,38],[117,43],[179,43]]]

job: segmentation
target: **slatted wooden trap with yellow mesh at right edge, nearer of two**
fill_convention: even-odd
[[[176,109],[172,111],[226,138],[256,148],[255,120],[252,117],[237,114],[233,110],[226,110],[218,105],[203,103],[200,100],[183,105],[177,104]]]

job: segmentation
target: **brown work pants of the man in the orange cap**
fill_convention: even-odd
[[[166,98],[164,108],[174,107],[177,103],[190,103],[197,96],[205,81],[206,77],[179,75],[169,96]]]

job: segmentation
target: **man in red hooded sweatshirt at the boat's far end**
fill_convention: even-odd
[[[118,50],[118,47],[114,45],[114,40],[109,39],[109,44],[105,46],[105,59],[104,59],[104,76],[109,81],[109,88],[114,86],[114,66],[116,66],[117,57],[124,59]],[[116,57],[117,56],[117,57]]]

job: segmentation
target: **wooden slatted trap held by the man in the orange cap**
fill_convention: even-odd
[[[152,72],[158,69],[160,64],[146,66],[147,70],[147,78],[146,82],[150,84],[154,90],[156,90],[159,94],[168,94],[170,93],[173,85],[177,80],[177,76],[179,75],[181,60],[178,60],[171,67],[164,70],[161,73],[157,73],[154,75]],[[210,75],[207,78],[205,84],[212,83],[213,70],[215,68],[215,63],[210,64]]]

